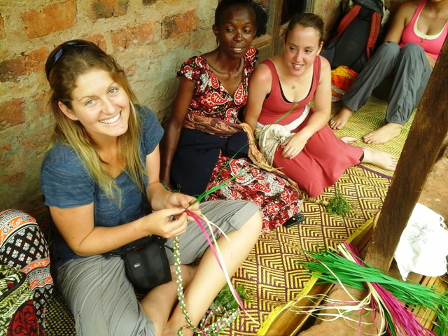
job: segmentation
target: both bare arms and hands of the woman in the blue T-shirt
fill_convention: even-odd
[[[171,238],[186,230],[188,217],[184,214],[184,209],[189,207],[195,198],[170,193],[162,186],[158,178],[158,146],[147,156],[146,162],[150,176],[148,200],[154,210],[148,216],[115,227],[100,227],[94,225],[94,203],[66,209],[50,207],[57,230],[73,252],[82,256],[101,254],[148,235]],[[194,204],[190,209],[199,212],[199,205]]]

